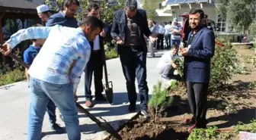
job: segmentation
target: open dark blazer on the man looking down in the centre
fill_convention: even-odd
[[[147,52],[146,41],[144,35],[149,37],[152,33],[149,30],[148,20],[146,17],[146,11],[142,9],[137,9],[137,13],[135,15],[136,23],[139,28],[139,38],[141,39],[141,44],[143,50]],[[126,39],[125,32],[126,32],[126,13],[125,11],[119,10],[114,12],[114,19],[113,25],[111,29],[111,36],[113,38],[120,37],[120,39]],[[118,45],[120,47],[120,45]],[[118,48],[117,48],[118,49]]]

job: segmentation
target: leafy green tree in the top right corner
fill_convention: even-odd
[[[218,12],[226,18],[231,27],[245,33],[256,17],[254,0],[219,0]]]

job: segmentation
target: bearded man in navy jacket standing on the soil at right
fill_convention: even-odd
[[[187,48],[181,49],[184,56],[184,78],[187,85],[187,98],[193,117],[186,120],[193,124],[188,129],[206,128],[207,94],[210,82],[210,59],[214,55],[215,36],[212,30],[203,25],[202,10],[191,10],[189,23],[192,31],[188,36]]]

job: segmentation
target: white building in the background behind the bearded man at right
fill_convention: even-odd
[[[192,8],[200,8],[208,15],[208,19],[216,23],[216,26],[218,26],[218,34],[234,35],[235,33],[231,32],[226,19],[222,19],[220,15],[217,14],[217,6],[218,3],[214,0],[165,0],[165,2],[162,2],[162,5],[155,10],[158,16],[155,16],[154,20],[157,22],[168,22],[174,17],[177,17],[182,23],[183,19],[179,17],[179,15],[189,12]],[[165,17],[166,14],[169,14],[168,18]],[[235,36],[233,37],[235,38]]]

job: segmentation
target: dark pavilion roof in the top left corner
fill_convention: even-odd
[[[37,14],[37,6],[26,0],[0,0],[0,12]]]

